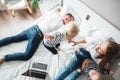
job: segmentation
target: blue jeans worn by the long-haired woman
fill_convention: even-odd
[[[72,61],[57,75],[55,80],[76,80],[80,75],[77,69],[82,66],[84,59],[91,58],[91,56],[89,52],[83,48],[75,53],[79,54],[79,58],[78,56],[73,57]]]

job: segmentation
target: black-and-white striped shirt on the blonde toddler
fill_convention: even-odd
[[[58,30],[53,31],[52,33],[48,33],[48,34],[54,36],[54,39],[52,39],[52,40],[44,38],[44,40],[43,40],[44,45],[48,46],[48,47],[55,47],[57,44],[59,44],[60,42],[62,42],[63,40],[66,39],[66,32],[62,29],[58,29]]]

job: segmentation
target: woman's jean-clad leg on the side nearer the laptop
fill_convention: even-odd
[[[79,62],[76,57],[57,75],[55,80],[64,80],[71,72],[78,68]]]

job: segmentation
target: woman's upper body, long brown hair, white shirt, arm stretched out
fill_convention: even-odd
[[[111,69],[111,60],[116,57],[119,54],[119,45],[114,41],[104,41],[104,42],[98,42],[96,40],[93,40],[91,38],[89,39],[81,39],[79,41],[72,41],[74,45],[80,44],[80,43],[88,43],[89,45],[93,45],[96,47],[95,53],[93,53],[91,50],[89,51],[92,58],[99,64],[99,67],[102,69]],[[98,43],[98,44],[97,44]],[[92,52],[92,53],[91,53]],[[101,60],[97,60],[101,59]]]

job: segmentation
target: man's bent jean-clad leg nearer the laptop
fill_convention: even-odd
[[[19,52],[15,54],[8,54],[5,56],[5,61],[30,59],[37,50],[41,40],[42,38],[40,38],[39,35],[36,35],[32,40],[28,41],[25,53]]]

